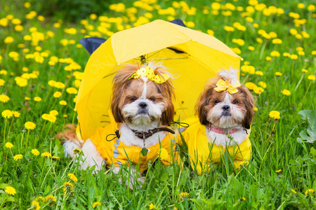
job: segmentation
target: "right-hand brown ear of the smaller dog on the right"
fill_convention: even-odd
[[[238,89],[244,94],[244,104],[246,107],[246,116],[242,122],[242,126],[246,129],[250,129],[251,122],[254,119],[254,97],[244,85],[238,87]]]

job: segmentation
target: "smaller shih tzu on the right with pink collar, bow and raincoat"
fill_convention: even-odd
[[[240,85],[236,70],[223,70],[216,80],[205,86],[196,104],[197,116],[180,129],[183,138],[178,144],[187,144],[192,169],[199,174],[209,172],[229,153],[237,169],[251,158],[249,141],[251,121],[254,118],[254,97]]]

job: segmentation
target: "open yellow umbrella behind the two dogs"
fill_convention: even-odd
[[[112,77],[124,63],[162,62],[176,76],[176,118],[194,115],[199,93],[219,69],[239,70],[241,58],[208,34],[171,22],[155,20],[119,31],[101,44],[88,59],[77,97],[81,139],[110,123]]]

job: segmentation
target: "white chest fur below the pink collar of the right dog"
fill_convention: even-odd
[[[206,135],[209,138],[209,142],[212,144],[216,144],[218,146],[234,146],[242,144],[242,142],[246,139],[248,134],[246,131],[244,131],[243,127],[237,127],[238,131],[233,134],[218,134],[216,132],[213,132],[209,130],[208,127],[206,127]],[[247,130],[249,133],[250,130]]]

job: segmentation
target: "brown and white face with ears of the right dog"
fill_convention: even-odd
[[[216,83],[206,85],[197,102],[197,113],[202,125],[215,125],[232,128],[242,125],[249,129],[254,118],[254,97],[249,90],[240,86],[238,92],[230,94],[227,90],[217,92]]]

